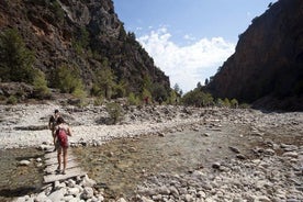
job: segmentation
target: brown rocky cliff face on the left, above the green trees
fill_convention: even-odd
[[[90,87],[94,71],[109,66],[128,91],[138,91],[145,76],[169,89],[169,78],[125,32],[112,0],[0,0],[0,32],[7,27],[18,29],[48,78],[68,64]]]

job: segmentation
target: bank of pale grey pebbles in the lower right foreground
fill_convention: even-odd
[[[156,201],[165,202],[167,195],[170,194],[173,195],[175,201],[186,202],[301,202],[303,201],[303,187],[301,186],[303,173],[298,176],[295,172],[298,172],[298,168],[301,168],[303,161],[290,162],[289,157],[303,159],[303,148],[294,145],[288,145],[288,148],[292,148],[292,152],[285,152],[281,156],[278,156],[276,150],[269,150],[256,159],[226,160],[224,166],[234,168],[228,171],[221,169],[217,172],[216,170],[222,167],[223,162],[213,162],[212,168],[215,169],[203,168],[203,178],[199,178],[197,175],[201,172],[200,170],[183,173],[180,178],[175,178],[169,173],[153,176],[144,181],[145,187],[141,187],[141,189],[149,190],[156,186],[165,188],[172,181],[175,186],[170,187],[170,193],[161,193],[159,190],[153,194],[144,194],[148,191],[141,192],[139,200],[156,199]],[[176,180],[179,181],[176,182]],[[183,181],[187,183],[182,183]],[[207,189],[205,189],[205,184],[209,184]]]

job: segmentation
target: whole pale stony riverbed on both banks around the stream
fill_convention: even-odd
[[[71,146],[101,148],[111,139],[142,135],[169,138],[170,134],[192,132],[204,149],[201,164],[179,173],[145,172],[128,198],[106,199],[98,183],[83,186],[83,179],[74,179],[19,201],[36,200],[41,194],[45,195],[41,201],[47,201],[58,190],[63,198],[74,201],[303,201],[302,112],[125,106],[122,122],[105,125],[104,106],[0,105],[0,148],[52,146],[46,124],[55,109],[71,125]]]

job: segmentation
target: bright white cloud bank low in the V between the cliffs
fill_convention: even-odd
[[[178,46],[170,37],[167,29],[161,27],[137,40],[154,58],[155,65],[169,76],[171,87],[178,83],[183,92],[214,76],[235,50],[235,44],[222,37],[201,38],[188,46]]]

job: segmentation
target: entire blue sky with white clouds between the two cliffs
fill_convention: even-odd
[[[113,0],[127,32],[187,92],[214,76],[238,35],[277,0]]]

